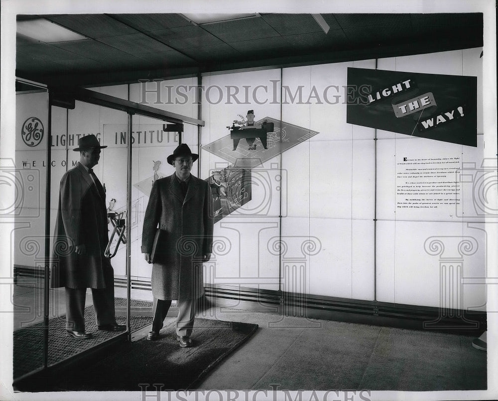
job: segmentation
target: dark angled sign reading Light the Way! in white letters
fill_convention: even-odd
[[[477,147],[477,77],[348,68],[347,122]]]

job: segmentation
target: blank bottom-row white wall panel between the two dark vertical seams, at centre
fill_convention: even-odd
[[[283,290],[373,299],[373,220],[286,217],[281,241]],[[286,272],[289,266],[294,274]]]

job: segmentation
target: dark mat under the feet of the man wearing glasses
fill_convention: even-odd
[[[196,319],[193,347],[180,348],[175,321],[157,341],[124,343],[118,352],[84,369],[72,368],[46,391],[168,391],[195,384],[227,355],[245,343],[256,324]]]

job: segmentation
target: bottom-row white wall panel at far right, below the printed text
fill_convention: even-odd
[[[377,223],[377,300],[467,309],[485,303],[486,236],[482,224]],[[461,274],[459,267],[461,266]],[[452,277],[449,281],[449,277]],[[466,283],[467,282],[467,283]],[[449,304],[445,294],[455,297]],[[456,294],[459,294],[458,296]]]

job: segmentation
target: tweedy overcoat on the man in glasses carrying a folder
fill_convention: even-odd
[[[191,175],[184,199],[176,173],[156,180],[145,210],[142,253],[152,252],[157,228],[163,230],[163,235],[152,265],[153,296],[172,300],[199,298],[204,294],[200,259],[213,248],[208,182]]]

